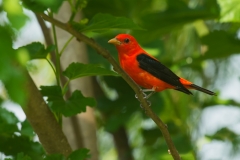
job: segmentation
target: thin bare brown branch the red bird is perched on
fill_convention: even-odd
[[[152,111],[146,99],[144,99],[144,95],[141,91],[141,88],[122,70],[122,68],[118,65],[118,63],[114,60],[114,58],[110,55],[110,53],[102,48],[99,44],[97,44],[93,39],[88,38],[87,36],[81,34],[77,30],[71,27],[68,23],[62,23],[56,19],[53,19],[46,14],[41,14],[42,18],[50,23],[54,23],[57,27],[71,33],[77,39],[85,42],[92,48],[94,48],[100,55],[106,58],[114,67],[114,70],[117,71],[122,78],[130,85],[130,87],[134,90],[134,92],[138,96],[138,100],[141,103],[141,106],[144,108],[145,113],[157,124],[158,128],[161,130],[163,137],[168,145],[170,153],[175,160],[180,160],[180,156],[178,151],[176,150],[170,134],[168,132],[167,126],[162,122],[162,120]]]

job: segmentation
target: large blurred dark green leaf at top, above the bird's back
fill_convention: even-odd
[[[139,15],[140,22],[142,22],[140,25],[147,31],[134,31],[135,38],[149,43],[187,23],[199,19],[216,19],[220,15],[220,8],[216,0],[206,0],[195,8],[189,7],[182,0],[168,0],[167,5],[167,9],[164,11],[150,11]]]

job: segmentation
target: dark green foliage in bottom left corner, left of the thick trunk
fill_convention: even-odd
[[[0,151],[5,155],[24,158],[23,154],[32,159],[41,160],[42,146],[39,142],[33,142],[33,130],[27,121],[22,123],[21,130],[17,127],[20,123],[15,115],[0,107]]]

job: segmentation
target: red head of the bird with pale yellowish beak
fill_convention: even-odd
[[[129,34],[119,34],[115,38],[110,39],[108,43],[114,44],[120,54],[132,54],[134,50],[141,48],[136,39]]]

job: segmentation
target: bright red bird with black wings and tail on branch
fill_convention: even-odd
[[[212,91],[178,77],[156,58],[144,51],[136,39],[129,34],[119,34],[109,40],[108,43],[116,46],[122,69],[138,85],[146,88],[143,90],[145,92],[153,91],[152,93],[154,93],[165,89],[175,89],[186,94],[192,94],[188,89],[195,89],[209,95],[215,95]]]

